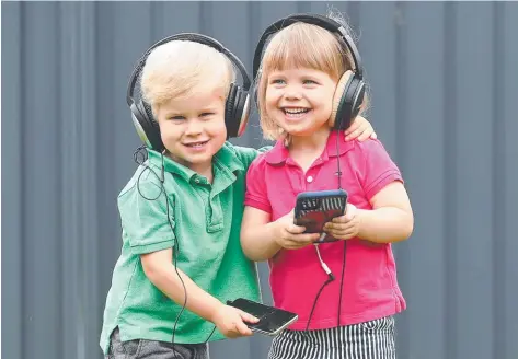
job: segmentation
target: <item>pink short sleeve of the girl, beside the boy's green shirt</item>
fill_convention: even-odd
[[[272,204],[266,190],[266,161],[264,155],[255,159],[246,172],[246,194],[244,205],[272,213]]]

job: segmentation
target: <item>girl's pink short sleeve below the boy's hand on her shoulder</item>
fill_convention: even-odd
[[[369,139],[357,143],[364,157],[361,178],[369,201],[390,183],[394,181],[403,183],[400,170],[379,140]]]

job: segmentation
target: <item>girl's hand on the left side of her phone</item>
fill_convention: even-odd
[[[303,233],[306,228],[293,223],[295,210],[276,220],[277,234],[275,241],[286,250],[298,250],[313,244],[320,238],[319,233]]]

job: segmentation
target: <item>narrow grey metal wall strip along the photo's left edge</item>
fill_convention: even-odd
[[[20,40],[22,3],[2,4],[2,44],[8,37]],[[9,34],[9,36],[8,36]],[[25,232],[23,230],[23,166],[22,154],[22,51],[10,43],[9,51],[2,47],[2,355],[23,358],[23,258]],[[14,46],[13,46],[14,45]],[[9,84],[9,91],[7,85]],[[9,136],[7,136],[9,135]],[[8,139],[9,138],[9,139]],[[9,155],[5,155],[9,153]],[[10,170],[8,170],[10,169]],[[8,210],[9,207],[9,210]],[[7,255],[9,254],[9,255]],[[9,271],[9,277],[5,273]],[[4,323],[10,323],[9,328]],[[8,349],[5,350],[5,347]]]

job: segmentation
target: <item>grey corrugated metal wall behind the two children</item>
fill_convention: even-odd
[[[101,358],[141,53],[202,32],[251,69],[269,23],[330,5],[360,35],[369,118],[415,210],[395,246],[399,358],[518,357],[518,3],[314,1],[2,2],[3,358]],[[256,117],[235,142],[262,142]],[[268,345],[218,343],[211,358],[266,358]]]

